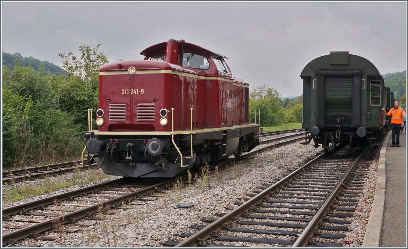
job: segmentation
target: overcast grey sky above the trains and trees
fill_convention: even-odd
[[[302,94],[306,64],[330,51],[406,69],[406,2],[2,2],[2,52],[58,66],[58,53],[102,44],[111,62],[184,39],[226,55],[234,76]]]

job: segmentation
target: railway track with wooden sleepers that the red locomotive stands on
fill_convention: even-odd
[[[280,138],[274,138],[265,140],[264,142],[273,142],[277,140],[285,140],[292,138],[293,136],[299,136],[299,134],[288,135]],[[268,147],[279,146],[289,142],[297,141],[299,138],[286,140],[265,146],[263,148],[246,153],[237,159],[242,159],[248,155],[264,151]],[[71,162],[72,163],[72,162]],[[220,162],[223,163],[223,162]],[[59,165],[67,165],[59,164]],[[46,166],[35,167],[39,170],[44,170]],[[55,166],[57,167],[57,166]],[[30,168],[32,169],[32,168]],[[24,171],[23,171],[24,172]],[[31,172],[36,172],[31,170]],[[100,208],[104,207],[108,214],[114,214],[114,211],[108,211],[109,208],[120,208],[125,202],[131,205],[137,205],[137,199],[146,199],[143,197],[147,195],[148,199],[157,198],[163,196],[160,193],[160,189],[165,188],[168,184],[171,184],[174,179],[156,183],[151,186],[140,186],[138,183],[129,183],[126,178],[115,179],[105,183],[99,183],[94,186],[73,190],[63,194],[58,194],[52,197],[39,199],[37,201],[16,205],[10,208],[2,210],[3,227],[8,229],[15,229],[12,232],[3,234],[3,246],[4,245],[17,245],[18,240],[27,237],[43,239],[44,236],[40,236],[41,232],[57,229],[55,226],[62,226],[67,223],[75,223],[77,225],[91,225],[94,219],[98,219]],[[159,191],[157,191],[157,189]],[[156,192],[156,193],[155,193]],[[159,193],[157,193],[159,192]],[[55,218],[58,217],[58,218]],[[85,218],[91,221],[79,221]],[[55,221],[59,221],[56,224]],[[5,222],[5,223],[4,223]],[[17,223],[16,223],[17,222]],[[18,224],[11,225],[10,223]],[[58,230],[58,229],[57,229]],[[75,232],[77,229],[63,229],[64,232]],[[44,240],[52,239],[45,236]]]

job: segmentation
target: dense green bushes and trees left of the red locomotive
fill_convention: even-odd
[[[18,59],[13,67],[3,65],[3,166],[80,155],[82,133],[88,129],[86,109],[98,107],[99,68],[109,61],[99,46],[80,46],[78,56],[59,54],[66,74],[51,73],[45,62],[37,68],[22,66]]]

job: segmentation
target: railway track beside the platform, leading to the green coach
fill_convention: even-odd
[[[209,225],[198,232],[175,234],[182,241],[165,246],[222,246],[227,242],[282,246],[341,246],[364,186],[369,162],[359,163],[364,153],[344,147],[323,153],[293,172],[275,179],[235,203],[237,208],[220,218],[202,219]],[[375,153],[374,153],[375,154]],[[242,202],[244,201],[244,202]],[[273,229],[269,229],[273,227]],[[347,243],[348,241],[344,241]]]

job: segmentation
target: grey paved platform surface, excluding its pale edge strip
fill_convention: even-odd
[[[385,155],[385,201],[380,247],[406,247],[406,134],[399,136],[401,147],[390,147]],[[381,160],[381,159],[380,159]],[[380,162],[381,163],[381,162]],[[377,192],[377,190],[376,190]],[[404,201],[401,201],[404,200]],[[397,218],[395,218],[397,217]]]

